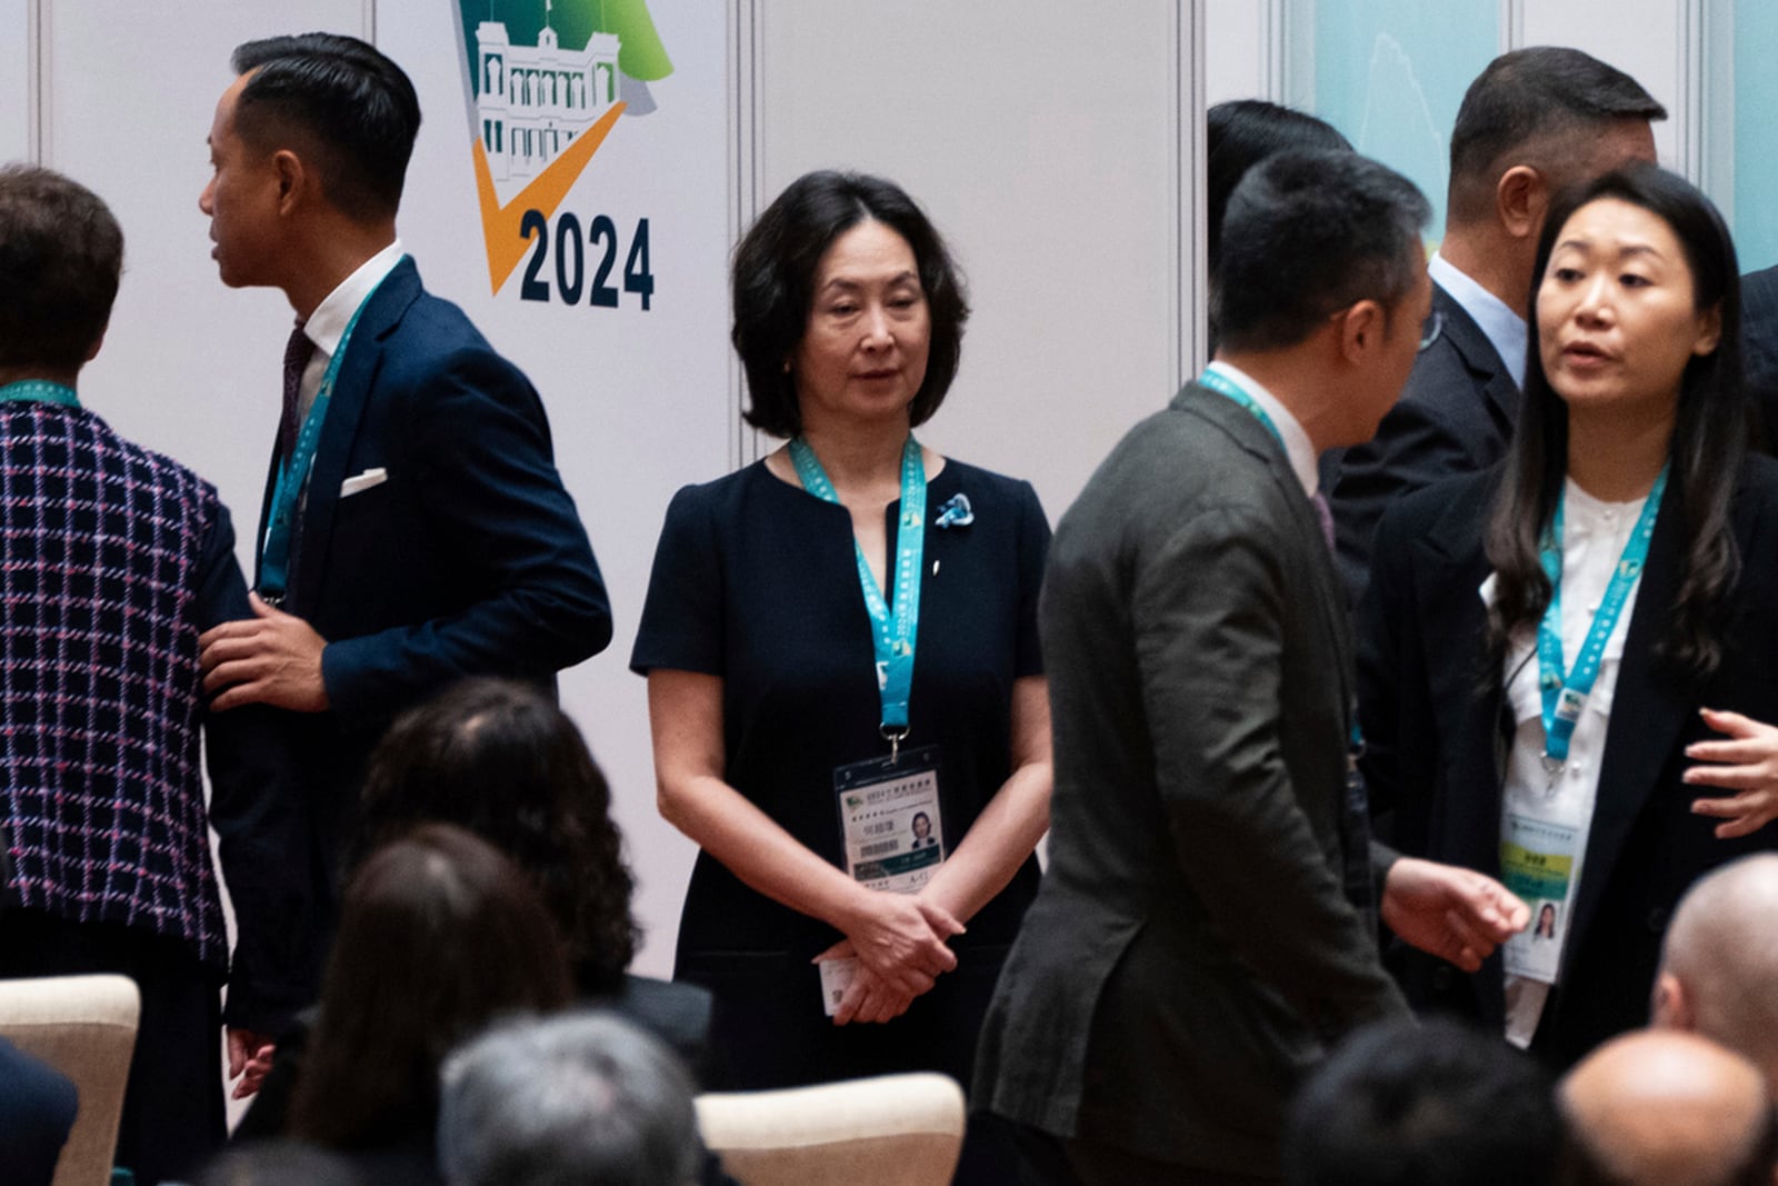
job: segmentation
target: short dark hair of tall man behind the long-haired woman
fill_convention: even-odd
[[[1451,130],[1451,220],[1483,217],[1513,164],[1556,172],[1558,188],[1579,180],[1563,176],[1572,155],[1563,140],[1620,119],[1666,119],[1666,108],[1643,84],[1581,50],[1542,44],[1494,59],[1469,84]]]

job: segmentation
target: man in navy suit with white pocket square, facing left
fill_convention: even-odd
[[[352,37],[240,46],[210,130],[222,283],[297,313],[254,535],[252,617],[204,633],[215,711],[297,720],[311,861],[331,882],[364,757],[404,708],[468,674],[551,685],[610,642],[537,391],[395,236],[420,103]]]

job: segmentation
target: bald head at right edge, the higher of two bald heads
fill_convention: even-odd
[[[1778,1095],[1778,853],[1725,864],[1680,900],[1654,1022],[1746,1054]]]

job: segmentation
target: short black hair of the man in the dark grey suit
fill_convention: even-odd
[[[1357,302],[1385,309],[1426,267],[1426,197],[1358,153],[1278,153],[1248,169],[1223,219],[1213,315],[1223,345],[1296,345]]]

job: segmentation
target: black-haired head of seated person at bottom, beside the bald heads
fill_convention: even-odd
[[[1561,1145],[1531,1058],[1456,1021],[1366,1026],[1296,1097],[1287,1186],[1540,1186]]]

